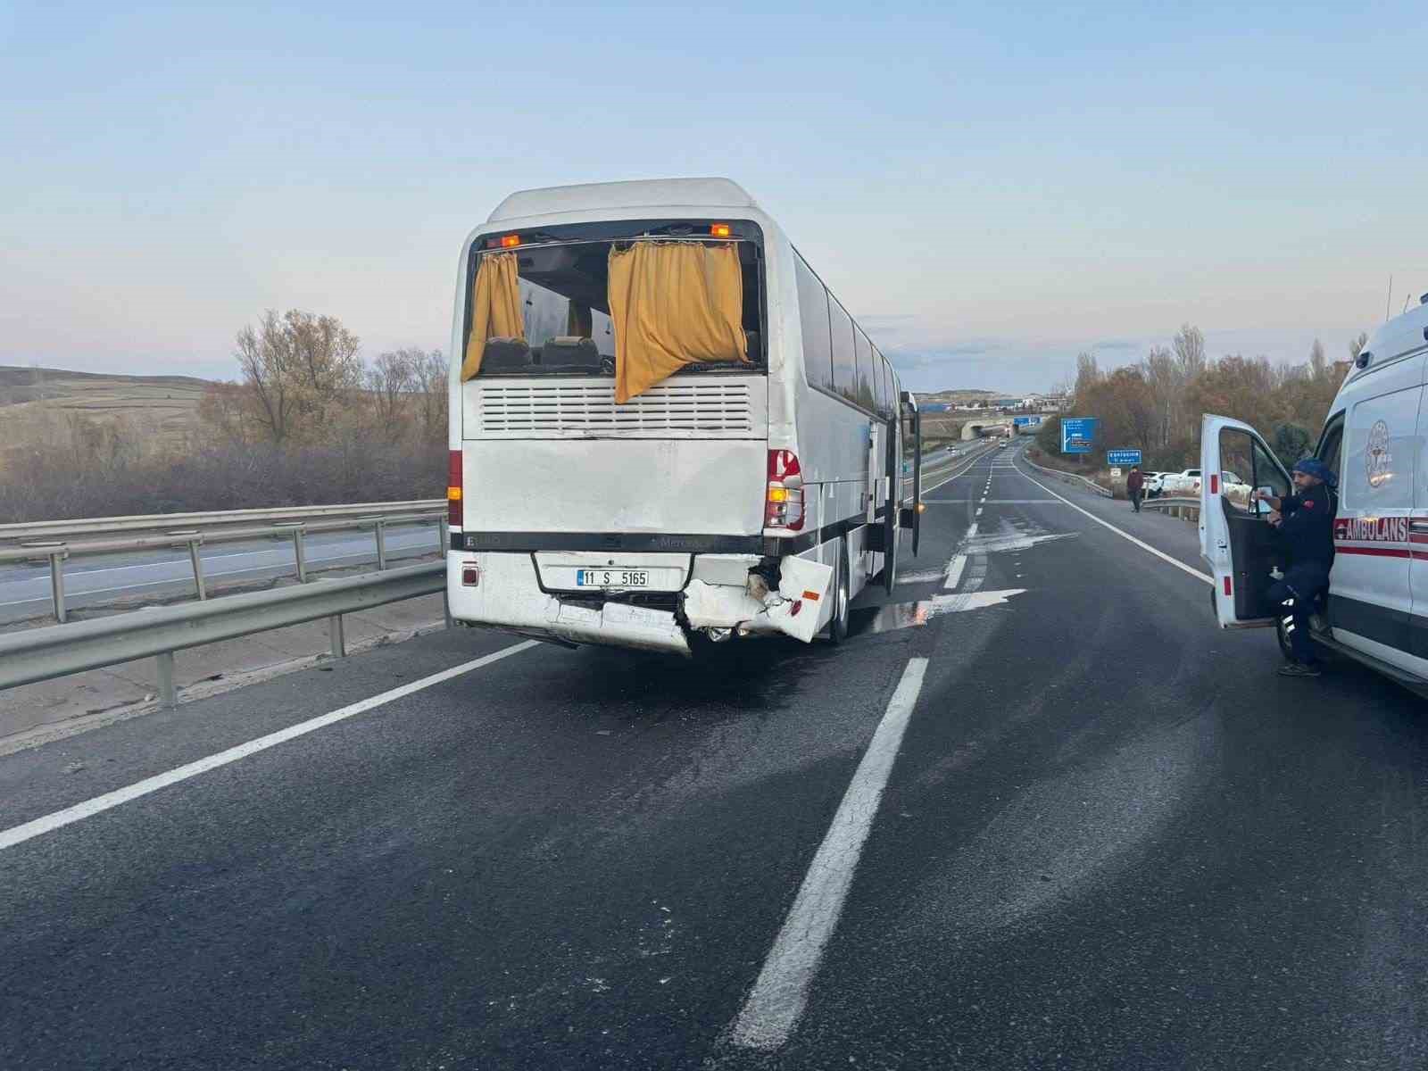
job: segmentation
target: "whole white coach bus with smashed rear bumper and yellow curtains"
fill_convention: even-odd
[[[457,621],[841,643],[917,553],[915,400],[727,178],[511,194],[461,250],[451,351]]]

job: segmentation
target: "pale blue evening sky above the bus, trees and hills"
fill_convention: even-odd
[[[1421,4],[0,0],[0,364],[450,350],[510,191],[728,176],[917,390],[1304,361],[1428,291]],[[1392,277],[1392,297],[1389,297]]]

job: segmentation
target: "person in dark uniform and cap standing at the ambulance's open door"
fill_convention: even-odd
[[[1294,466],[1294,494],[1284,498],[1262,491],[1250,494],[1250,501],[1269,503],[1275,511],[1269,514],[1269,523],[1279,528],[1279,538],[1289,551],[1284,580],[1269,588],[1269,598],[1284,608],[1284,627],[1295,658],[1279,667],[1285,677],[1319,675],[1314,641],[1309,640],[1309,614],[1314,613],[1314,595],[1329,585],[1329,567],[1334,564],[1335,483],[1327,464],[1307,457]]]

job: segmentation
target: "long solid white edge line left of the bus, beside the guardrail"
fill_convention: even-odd
[[[513,654],[537,647],[538,641],[526,640],[516,644],[514,647],[503,647],[500,651],[493,654],[481,655],[468,663],[461,663],[460,665],[453,665],[450,670],[443,670],[441,673],[434,673],[430,677],[423,677],[418,681],[411,681],[411,684],[403,684],[400,688],[391,688],[380,695],[373,695],[357,703],[350,703],[346,707],[321,714],[316,718],[307,721],[300,721],[296,725],[288,725],[277,733],[268,733],[266,737],[258,737],[257,740],[250,740],[246,744],[238,744],[230,747],[227,751],[220,751],[216,755],[208,755],[207,758],[200,758],[196,763],[187,763],[186,765],[174,767],[163,774],[154,774],[153,777],[146,777],[143,781],[136,781],[124,788],[116,788],[113,793],[104,793],[104,795],[96,795],[93,800],[86,800],[84,803],[74,804],[73,807],[66,807],[63,811],[54,811],[43,818],[36,818],[27,821],[21,825],[13,825],[9,830],[0,831],[0,851],[4,848],[13,848],[16,844],[23,844],[31,837],[39,837],[51,830],[59,830],[71,823],[77,823],[83,818],[90,818],[96,814],[107,811],[120,804],[126,804],[130,800],[137,800],[141,795],[149,795],[150,793],[157,793],[160,788],[167,788],[171,784],[178,784],[180,781],[187,781],[190,777],[197,777],[198,774],[206,774],[210,770],[217,770],[220,765],[227,765],[228,763],[237,763],[240,758],[247,758],[258,751],[266,751],[270,747],[277,747],[278,744],[294,740],[296,737],[306,735],[320,728],[327,728],[338,721],[363,714],[374,707],[380,707],[393,700],[400,700],[403,695],[410,695],[414,691],[421,691],[423,688],[430,688],[433,684],[441,684],[453,677],[460,677],[463,673],[470,673],[471,670],[480,670],[483,665],[490,665],[501,658],[510,658]]]

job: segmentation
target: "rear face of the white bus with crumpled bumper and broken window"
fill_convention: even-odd
[[[767,228],[733,183],[674,180],[514,194],[473,236],[453,340],[453,618],[681,654],[695,633],[790,631],[791,605],[770,613],[781,578],[765,554],[770,530],[801,526],[797,474],[768,441]],[[660,280],[620,281],[611,266],[637,243],[737,254],[737,293],[718,300],[743,360],[687,364],[617,403],[611,271],[624,323],[683,316],[661,307],[675,298]],[[494,330],[481,263],[501,254],[520,324],[487,337],[473,374],[473,330]]]

